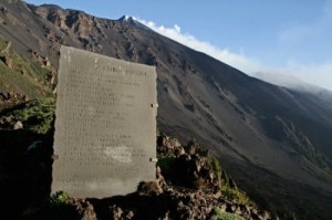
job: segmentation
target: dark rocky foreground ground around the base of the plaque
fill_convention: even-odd
[[[230,219],[273,219],[258,209],[195,140],[184,147],[165,135],[157,142],[156,180],[139,182],[137,191],[104,199],[74,198],[62,191],[50,196],[51,164],[46,158],[52,154],[51,134],[1,130],[2,216],[33,220],[225,219],[225,214]]]

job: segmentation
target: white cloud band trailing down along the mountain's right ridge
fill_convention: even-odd
[[[158,27],[152,21],[145,21],[142,19],[136,20],[162,35],[175,40],[196,51],[204,52],[249,75],[259,77],[259,74],[257,73],[260,72],[264,73],[261,74],[261,78],[267,81],[269,81],[269,78],[273,81],[272,78],[283,77],[282,81],[271,82],[276,84],[278,84],[279,82],[279,84],[282,84],[283,86],[295,86],[302,84],[302,81],[304,81],[332,91],[332,62],[321,64],[301,64],[297,61],[289,61],[284,66],[266,66],[259,59],[246,55],[242,50],[240,51],[240,53],[235,53],[229,51],[228,49],[219,49],[209,42],[200,41],[189,33],[183,33],[180,27],[177,24],[175,24],[173,28],[166,28],[164,25]],[[299,39],[302,38],[303,34],[311,34],[311,31],[312,29],[310,29],[310,27],[295,27],[284,31],[282,38],[283,40],[287,40],[289,42],[299,41]],[[268,76],[269,74],[270,76]]]

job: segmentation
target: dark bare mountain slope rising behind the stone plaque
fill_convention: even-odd
[[[301,212],[304,206],[313,213],[323,207],[331,214],[331,95],[249,77],[133,19],[21,1],[4,0],[0,8],[1,35],[20,54],[33,51],[55,69],[61,44],[155,65],[159,130],[204,143],[270,209]]]

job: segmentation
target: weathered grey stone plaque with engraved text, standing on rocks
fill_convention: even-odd
[[[156,70],[62,46],[52,192],[104,198],[155,179]]]

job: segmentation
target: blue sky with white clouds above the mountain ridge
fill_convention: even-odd
[[[332,91],[332,0],[25,2],[107,19],[131,15],[248,75],[308,82]]]

